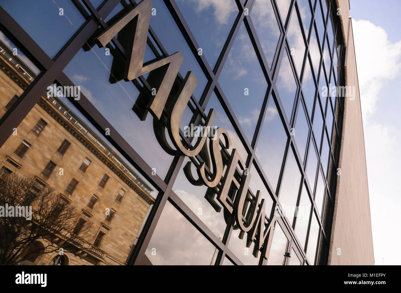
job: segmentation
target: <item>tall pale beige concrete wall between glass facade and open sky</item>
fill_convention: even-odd
[[[348,0],[340,2],[348,6]],[[374,265],[365,142],[351,19],[344,24],[347,38],[345,83],[355,87],[355,98],[346,97],[344,101],[339,159],[341,175],[337,179],[328,264]]]

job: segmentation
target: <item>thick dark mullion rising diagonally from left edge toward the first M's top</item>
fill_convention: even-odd
[[[117,2],[117,0],[109,0],[109,2]],[[111,12],[103,8],[99,11],[100,15],[107,15]],[[107,6],[111,9],[110,6]],[[93,35],[97,29],[97,22],[92,17],[75,32],[70,40],[63,46],[59,53],[54,58],[55,62],[49,67],[46,72],[43,72],[39,78],[34,80],[28,90],[22,94],[20,99],[4,114],[0,119],[0,133],[3,136],[0,138],[0,147],[6,142],[8,137],[13,132],[13,128],[17,128],[22,120],[28,115],[30,110],[38,102],[40,97],[46,92],[49,84],[54,82],[61,74],[65,66],[72,60],[87,40]]]

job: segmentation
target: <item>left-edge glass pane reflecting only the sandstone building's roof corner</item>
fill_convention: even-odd
[[[0,118],[40,73],[28,57],[0,31]]]

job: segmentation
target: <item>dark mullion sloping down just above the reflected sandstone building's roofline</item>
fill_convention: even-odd
[[[57,80],[63,86],[75,86],[73,82],[64,74],[61,73]],[[104,132],[105,128],[110,129],[110,135],[105,138],[118,149],[124,157],[134,165],[135,168],[141,170],[142,175],[152,183],[159,191],[166,190],[167,184],[157,174],[152,175],[152,168],[142,159],[142,157],[132,148],[130,144],[109,124],[108,120],[97,110],[95,106],[81,93],[81,98],[77,101],[70,101],[78,108],[80,112],[99,130]]]

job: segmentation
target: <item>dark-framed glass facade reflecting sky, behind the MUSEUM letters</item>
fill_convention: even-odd
[[[0,0],[0,44],[10,38],[21,47],[29,60],[25,55],[21,59],[34,72],[30,81],[35,82],[27,82],[29,86],[19,93],[22,99],[10,110],[7,103],[2,105],[0,130],[6,138],[0,146],[6,147],[12,138],[7,140],[10,126],[28,117],[26,109],[34,107],[47,86],[79,86],[80,99],[59,96],[51,103],[69,109],[63,115],[71,111],[70,116],[81,121],[81,129],[96,136],[103,152],[111,153],[109,157],[120,167],[132,170],[134,181],[140,178],[146,196],[152,197],[146,209],[128,201],[127,194],[121,204],[113,202],[112,221],[99,223],[100,230],[93,235],[98,249],[114,237],[126,252],[120,253],[126,257],[121,264],[327,263],[343,107],[343,100],[327,88],[344,84],[345,57],[336,1],[63,0],[55,4],[49,0],[34,9],[22,2],[20,8]],[[161,88],[166,66],[125,81],[122,73],[132,30],[120,30],[101,48],[95,42],[124,14],[146,2],[152,3],[152,12],[144,66],[181,52],[183,60],[169,100],[180,93],[188,71],[197,80],[179,122],[181,141],[194,146],[200,140],[196,134],[185,135],[186,130],[204,126],[211,109],[216,113],[213,126],[229,135],[229,147],[220,137],[224,167],[215,187],[202,184],[197,171],[205,163],[209,177],[216,172],[210,155],[213,140],[207,138],[197,155],[186,156],[169,136],[169,109],[158,119],[147,108]],[[43,10],[49,18],[40,16]],[[8,100],[15,94],[8,94]],[[70,141],[58,139],[58,146]],[[73,143],[64,157],[74,149]],[[234,149],[251,175],[246,203],[255,203],[258,196],[264,200],[261,223],[266,235],[260,249],[258,238],[250,239],[251,232],[244,233],[227,209],[226,204],[235,205],[239,186],[230,186],[226,203],[218,200]],[[84,159],[85,155],[76,169]],[[85,174],[95,163],[88,159]],[[241,170],[237,166],[234,173],[240,183],[245,180]],[[108,169],[99,173],[96,184],[109,173]],[[63,179],[65,187],[71,179]],[[77,181],[74,193],[80,194],[85,183]],[[105,188],[111,188],[110,181]],[[113,198],[127,189],[124,186],[112,191]],[[87,206],[95,196],[91,213],[108,206],[100,193],[91,190],[82,199]],[[132,223],[128,217],[138,209],[143,216]],[[244,223],[251,220],[250,209],[245,205]],[[122,235],[109,235],[118,231],[107,229],[115,221],[138,226],[132,243]]]

